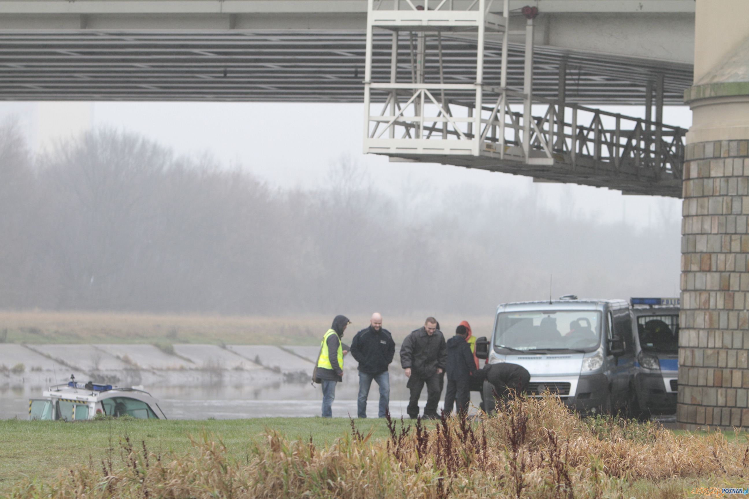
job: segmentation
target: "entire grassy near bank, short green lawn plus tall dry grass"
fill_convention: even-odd
[[[383,420],[355,424],[352,431],[343,418],[1,421],[0,494],[674,499],[694,497],[694,487],[749,486],[743,433],[581,420],[555,399],[516,403],[473,423],[430,421],[419,431],[396,423],[390,432]]]

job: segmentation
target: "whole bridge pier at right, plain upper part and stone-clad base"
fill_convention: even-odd
[[[726,13],[730,13],[727,16]],[[676,420],[749,426],[749,3],[697,0]]]

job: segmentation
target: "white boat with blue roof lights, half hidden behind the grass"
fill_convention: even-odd
[[[67,385],[53,385],[42,392],[42,397],[28,401],[28,420],[80,421],[94,419],[97,414],[166,419],[158,400],[147,391],[79,383],[73,375]]]

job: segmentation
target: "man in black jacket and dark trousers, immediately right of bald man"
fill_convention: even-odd
[[[426,407],[424,417],[437,419],[437,404],[440,402],[440,374],[447,363],[445,337],[437,331],[437,320],[427,317],[422,328],[411,332],[401,345],[401,367],[408,378],[410,400],[406,411],[411,419],[419,417],[419,397],[426,385]]]

